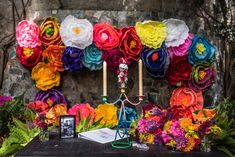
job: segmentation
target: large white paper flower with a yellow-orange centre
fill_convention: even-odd
[[[85,49],[92,43],[93,26],[87,19],[68,15],[61,23],[60,36],[65,46]]]

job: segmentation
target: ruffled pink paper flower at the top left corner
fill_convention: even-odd
[[[22,20],[16,26],[16,40],[21,47],[35,48],[40,46],[38,25],[33,21]]]

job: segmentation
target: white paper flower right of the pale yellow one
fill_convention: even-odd
[[[175,47],[183,44],[189,33],[189,28],[185,22],[173,18],[164,20],[163,22],[166,23],[167,27],[165,45],[167,47]]]

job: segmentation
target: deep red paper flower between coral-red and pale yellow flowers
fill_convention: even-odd
[[[126,27],[120,29],[120,50],[123,52],[125,59],[138,61],[142,44],[136,34],[134,27]]]

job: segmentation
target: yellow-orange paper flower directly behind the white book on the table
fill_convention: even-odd
[[[95,109],[95,122],[100,120],[100,124],[115,127],[118,124],[117,107],[113,104],[100,104]]]

